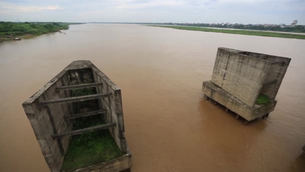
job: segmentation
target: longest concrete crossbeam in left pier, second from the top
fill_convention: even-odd
[[[71,97],[71,98],[42,101],[40,104],[41,105],[53,105],[53,104],[63,104],[63,103],[72,103],[72,102],[82,102],[82,101],[86,101],[86,100],[100,99],[100,98],[110,96],[110,95],[112,95],[112,93],[78,96],[78,97]]]

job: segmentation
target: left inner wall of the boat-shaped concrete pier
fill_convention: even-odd
[[[68,85],[66,78],[65,72],[61,72],[23,103],[42,153],[52,171],[60,171],[70,141],[70,137],[53,139],[52,135],[72,129],[72,123],[64,120],[64,116],[71,115],[71,111],[68,104],[41,106],[40,102],[70,96],[66,92],[56,92],[56,87]]]

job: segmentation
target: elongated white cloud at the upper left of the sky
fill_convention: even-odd
[[[0,2],[0,9],[15,10],[20,12],[38,12],[43,10],[60,10],[64,8],[60,6],[31,6]]]

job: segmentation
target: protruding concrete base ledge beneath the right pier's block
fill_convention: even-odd
[[[250,107],[211,81],[203,82],[202,92],[205,96],[225,106],[247,121],[252,121],[269,114],[274,110],[276,105],[276,101],[274,100],[270,101],[267,105],[254,105],[254,107]]]

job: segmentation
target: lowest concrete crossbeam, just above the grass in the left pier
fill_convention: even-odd
[[[83,133],[87,133],[87,132],[92,132],[92,131],[107,129],[107,128],[114,127],[114,126],[116,126],[116,123],[109,123],[109,124],[104,124],[104,125],[97,125],[97,126],[93,126],[93,127],[88,127],[88,128],[79,129],[79,130],[72,130],[72,131],[67,132],[67,133],[54,134],[52,137],[53,137],[53,138],[56,138],[56,137],[64,137],[64,136],[79,135],[79,134],[83,134]]]

